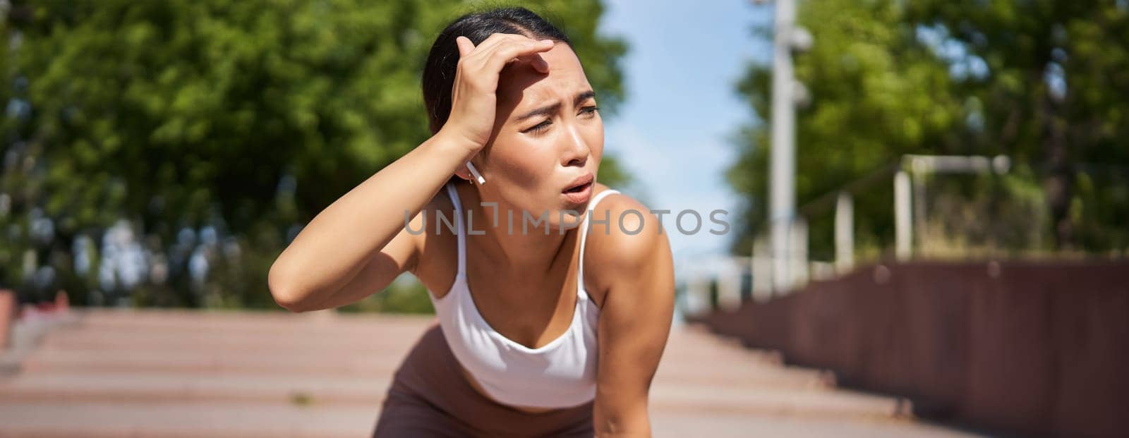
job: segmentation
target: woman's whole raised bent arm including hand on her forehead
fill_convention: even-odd
[[[443,184],[453,174],[463,175],[464,164],[489,141],[501,69],[516,58],[553,46],[509,34],[491,35],[478,46],[460,36],[456,44],[460,59],[447,123],[303,228],[268,275],[271,296],[280,306],[292,312],[342,306],[413,269],[423,235],[406,233],[405,216],[420,220],[419,212]]]

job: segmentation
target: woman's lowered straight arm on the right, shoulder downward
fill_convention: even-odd
[[[595,246],[589,254],[602,266],[596,282],[605,290],[594,421],[601,436],[649,436],[647,396],[671,330],[674,262],[658,218],[630,198],[616,198],[609,205],[611,233],[588,236]]]

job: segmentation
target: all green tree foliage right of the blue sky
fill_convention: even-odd
[[[1096,176],[1083,165],[1129,164],[1129,115],[1115,97],[1129,91],[1129,11],[1096,3],[800,1],[798,23],[815,44],[795,56],[796,78],[812,94],[812,104],[797,110],[798,204],[903,154],[1003,154],[1034,169],[1016,177],[1041,181],[1029,185],[1043,186],[1053,217],[1043,231],[1057,231],[1060,247],[1078,240],[1071,228],[1103,236],[1083,239],[1086,248],[1124,246],[1129,236],[1118,231],[1129,219],[1124,170],[1120,182],[1117,172],[1103,172],[1112,176],[1086,185]],[[771,38],[771,29],[756,34]],[[767,216],[770,81],[770,65],[752,64],[737,84],[758,116],[738,132],[739,158],[728,172],[747,201],[738,253],[749,253]],[[1026,193],[1016,182],[978,181],[971,184],[981,192],[995,184],[1012,187],[999,196]],[[856,198],[864,245],[893,238],[889,185]],[[812,225],[813,255],[830,253],[826,225]]]

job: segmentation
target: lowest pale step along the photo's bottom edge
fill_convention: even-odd
[[[24,438],[355,438],[378,409],[292,403],[0,402],[0,436]],[[844,420],[651,409],[657,438],[970,437],[905,420]]]

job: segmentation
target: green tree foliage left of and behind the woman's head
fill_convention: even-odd
[[[19,177],[42,191],[14,202],[9,218],[42,209],[64,253],[121,218],[140,227],[152,254],[176,245],[186,227],[213,227],[242,248],[234,257],[243,268],[213,270],[222,281],[210,284],[226,298],[187,294],[187,271],[174,265],[164,292],[139,299],[269,303],[266,269],[296,226],[427,139],[419,78],[430,44],[458,15],[488,6],[14,1],[6,35],[18,44],[2,44],[14,49],[3,56],[0,97],[32,111],[24,121],[5,119],[3,146],[24,144],[21,157],[37,165]],[[599,0],[526,7],[569,33],[601,106],[613,113],[624,95],[625,44],[596,32]],[[18,80],[26,89],[9,89]],[[602,178],[624,177],[614,157],[604,165]],[[212,264],[231,253],[224,246],[208,254]],[[9,283],[20,281],[8,271]],[[94,286],[78,283],[71,287]]]

